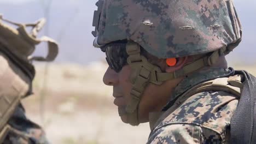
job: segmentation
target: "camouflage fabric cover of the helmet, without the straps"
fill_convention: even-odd
[[[128,39],[168,58],[227,46],[231,51],[241,41],[232,0],[100,0],[97,5],[96,45]]]

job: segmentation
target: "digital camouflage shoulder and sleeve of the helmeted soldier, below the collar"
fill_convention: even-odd
[[[193,95],[156,127],[148,143],[225,143],[238,100],[226,92]]]

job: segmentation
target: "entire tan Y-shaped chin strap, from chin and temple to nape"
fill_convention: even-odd
[[[158,66],[149,63],[147,58],[140,54],[139,44],[133,41],[128,41],[126,44],[126,52],[129,55],[127,63],[131,67],[131,99],[125,107],[125,111],[124,109],[119,110],[119,115],[127,115],[127,122],[129,124],[138,125],[139,103],[148,83],[161,85],[164,81],[176,79],[185,76],[194,70],[212,65],[218,61],[219,56],[223,55],[223,51],[223,49],[214,51],[210,56],[197,59],[192,63],[184,65],[182,69],[174,71],[173,73],[162,73]]]

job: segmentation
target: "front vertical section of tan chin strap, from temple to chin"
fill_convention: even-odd
[[[149,82],[161,85],[156,79],[156,73],[161,73],[161,69],[148,62],[147,58],[141,56],[140,47],[137,43],[129,42],[126,45],[126,52],[129,55],[127,63],[131,67],[130,81],[132,83],[131,99],[128,102],[125,111],[127,121],[131,125],[138,125],[138,108],[141,96]]]

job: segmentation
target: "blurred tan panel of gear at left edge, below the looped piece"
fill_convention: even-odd
[[[0,65],[0,129],[3,129],[21,98],[27,95],[32,81],[2,52]]]

